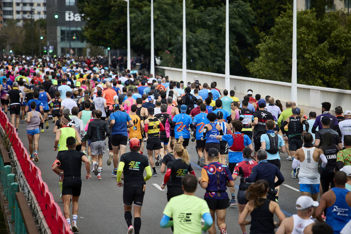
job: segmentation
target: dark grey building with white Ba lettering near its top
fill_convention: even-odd
[[[46,36],[48,46],[53,46],[51,55],[81,56],[86,43],[81,42],[84,22],[78,13],[76,0],[46,0],[46,6]]]

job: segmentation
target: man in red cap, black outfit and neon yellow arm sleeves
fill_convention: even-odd
[[[148,163],[147,157],[139,153],[140,141],[137,138],[130,139],[129,148],[131,152],[122,154],[120,162],[118,164],[117,186],[124,186],[124,218],[128,226],[128,233],[133,233],[134,231],[135,234],[139,234],[141,227],[141,206],[143,206],[145,194],[145,181],[151,178],[151,168]],[[143,176],[144,170],[146,171],[145,177]],[[124,184],[121,181],[122,171],[124,171]],[[132,226],[133,202],[134,226]]]

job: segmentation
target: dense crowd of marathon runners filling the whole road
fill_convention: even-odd
[[[246,225],[251,234],[351,233],[349,110],[338,106],[331,112],[325,101],[321,114],[307,114],[294,100],[283,109],[274,93],[261,97],[249,89],[239,99],[216,82],[195,77],[183,83],[134,68],[103,67],[94,59],[8,57],[1,59],[0,73],[2,111],[9,111],[16,129],[28,123],[31,160],[40,160],[40,133],[55,134],[52,170],[73,232],[82,162],[86,179],[93,173],[97,180],[106,162],[113,163],[111,175],[124,187],[128,234],[140,233],[146,181],[160,175],[168,201],[160,227],[174,233],[214,234],[218,228],[225,234],[226,210],[236,205],[242,233]],[[55,125],[47,130],[49,120]],[[194,150],[187,149],[190,141]],[[281,159],[280,152],[288,157]],[[196,154],[201,175],[190,163]],[[289,218],[278,205],[285,180],[281,160],[292,161],[291,176],[301,192],[297,214]],[[198,187],[205,189],[204,199],[194,196]]]

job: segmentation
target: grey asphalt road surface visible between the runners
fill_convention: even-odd
[[[8,115],[9,117],[9,115]],[[20,123],[19,136],[23,145],[28,150],[28,140],[26,134],[26,125]],[[53,133],[54,124],[49,120],[49,129],[45,129],[44,133],[40,133],[39,140],[39,161],[34,162],[41,170],[42,179],[47,183],[50,192],[53,194],[55,202],[59,204],[63,211],[63,203],[59,199],[60,187],[58,183],[58,175],[55,174],[51,165],[54,162],[57,152],[54,149],[55,134]],[[107,145],[107,143],[106,143]],[[146,152],[146,144],[144,144],[144,154]],[[191,157],[191,163],[197,177],[201,175],[201,168],[197,165],[197,153],[194,149],[194,142],[190,141],[187,150]],[[127,152],[129,148],[127,147]],[[295,202],[300,196],[298,179],[291,177],[292,161],[286,161],[287,154],[281,154],[281,172],[284,175],[285,181],[280,186],[279,206],[283,210],[285,216],[296,214]],[[79,212],[77,225],[79,233],[126,233],[127,225],[124,219],[124,209],[122,201],[123,188],[117,187],[116,178],[111,175],[113,163],[107,166],[108,149],[103,158],[103,170],[101,172],[102,180],[97,180],[93,173],[91,180],[85,180],[85,167],[82,164],[82,189],[79,198]],[[158,176],[151,177],[146,182],[146,192],[144,196],[143,208],[141,211],[141,231],[140,233],[165,234],[172,233],[171,229],[160,228],[159,223],[162,218],[162,212],[167,203],[166,191],[160,190],[159,186],[164,178],[164,174],[160,173],[160,166],[157,167]],[[145,173],[144,173],[145,174]],[[238,180],[237,180],[238,181]],[[236,182],[236,186],[239,181]],[[236,188],[237,192],[238,187]],[[227,190],[229,193],[229,189]],[[203,198],[205,190],[198,186],[196,196]],[[230,196],[230,194],[229,194]],[[181,205],[181,204],[179,204]],[[72,207],[72,206],[71,206]],[[62,212],[63,213],[63,212]],[[239,211],[237,206],[227,208],[226,224],[227,232],[230,234],[241,234],[241,229],[238,225]],[[71,214],[72,220],[72,214]],[[277,218],[275,217],[275,221]],[[250,232],[250,227],[247,226],[247,233]],[[219,230],[217,229],[217,233]]]

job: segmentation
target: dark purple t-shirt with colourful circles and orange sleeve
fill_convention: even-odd
[[[201,182],[208,182],[205,196],[207,199],[228,199],[226,182],[232,181],[229,167],[219,162],[211,162],[201,169]]]

